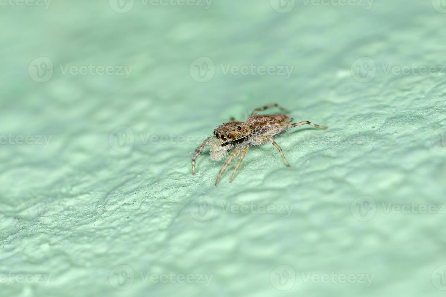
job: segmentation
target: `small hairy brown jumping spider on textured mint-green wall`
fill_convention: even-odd
[[[267,106],[259,107],[255,109],[246,122],[236,122],[235,118],[231,118],[231,122],[224,123],[214,131],[214,137],[207,138],[200,146],[197,147],[194,156],[192,157],[192,174],[195,174],[195,160],[204,151],[206,146],[211,146],[211,158],[215,161],[223,159],[228,152],[232,151],[229,157],[226,159],[223,167],[217,175],[215,185],[220,181],[223,172],[227,169],[229,164],[237,157],[240,152],[240,158],[235,164],[234,171],[230,179],[230,183],[235,177],[235,173],[240,167],[249,146],[260,146],[264,142],[271,142],[273,146],[279,150],[285,165],[289,167],[288,161],[285,159],[285,155],[281,147],[273,140],[273,137],[277,134],[281,134],[288,129],[302,125],[311,125],[316,128],[328,129],[328,127],[319,126],[312,122],[302,121],[298,123],[291,123],[293,118],[285,114],[265,114],[256,115],[261,110],[267,108],[277,107],[285,113],[289,113],[288,110],[278,106],[276,103],[269,104]]]

